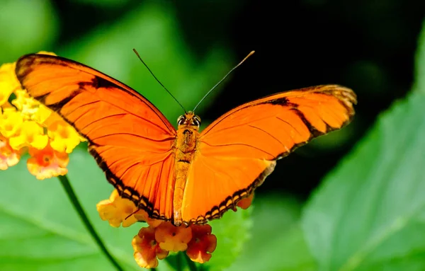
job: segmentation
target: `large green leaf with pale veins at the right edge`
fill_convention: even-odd
[[[424,104],[414,92],[380,116],[305,207],[319,270],[425,270]]]

